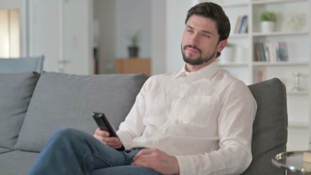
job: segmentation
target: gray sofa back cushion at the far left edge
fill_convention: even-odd
[[[39,74],[0,73],[0,147],[14,148]]]

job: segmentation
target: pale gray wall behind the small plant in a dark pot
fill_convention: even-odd
[[[150,57],[150,1],[115,1],[115,56],[128,57],[129,35],[141,31],[140,57]]]

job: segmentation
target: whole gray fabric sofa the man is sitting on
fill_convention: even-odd
[[[58,128],[77,128],[93,135],[94,111],[104,112],[118,129],[147,78],[143,74],[0,74],[0,174],[27,174]],[[286,149],[285,86],[274,78],[249,88],[258,111],[253,162],[243,174],[282,174],[271,158]]]

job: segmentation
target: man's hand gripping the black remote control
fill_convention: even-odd
[[[103,142],[104,144],[113,147],[113,148],[121,148],[122,143],[121,141],[116,137],[109,137],[109,133],[105,130],[101,130],[100,128],[97,128],[95,130],[94,137]]]

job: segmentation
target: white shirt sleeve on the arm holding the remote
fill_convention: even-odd
[[[142,86],[142,89],[136,96],[134,105],[132,106],[125,120],[120,124],[119,130],[117,131],[117,135],[126,149],[130,147],[134,138],[143,134],[145,129],[145,125],[143,124],[143,117],[146,110],[145,93],[149,79],[147,79],[147,81]]]

